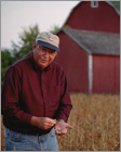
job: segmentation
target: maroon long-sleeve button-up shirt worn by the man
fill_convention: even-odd
[[[72,107],[63,68],[52,62],[41,71],[32,53],[8,69],[1,103],[4,126],[26,134],[44,131],[30,125],[31,116],[67,122]]]

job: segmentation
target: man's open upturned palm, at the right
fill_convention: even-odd
[[[68,125],[67,123],[60,121],[55,125],[55,134],[56,135],[65,135],[67,129],[72,129],[72,126]]]

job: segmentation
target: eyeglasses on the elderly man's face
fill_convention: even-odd
[[[44,55],[44,54],[46,54],[46,53],[49,53],[50,55],[55,55],[55,54],[57,54],[57,52],[56,51],[54,51],[54,50],[46,50],[45,48],[43,48],[43,47],[41,47],[41,46],[37,46],[37,48],[38,48],[38,50],[39,50],[39,52],[42,54],[42,55]]]

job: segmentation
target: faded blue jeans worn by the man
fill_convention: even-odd
[[[5,151],[59,151],[54,128],[46,135],[26,135],[5,128]]]

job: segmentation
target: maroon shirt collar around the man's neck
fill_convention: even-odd
[[[48,71],[51,69],[51,65],[46,66],[44,69],[41,69],[41,67],[40,67],[40,66],[36,63],[36,61],[33,60],[33,52],[30,54],[30,60],[31,60],[31,62],[32,62],[32,65],[33,65],[36,72],[40,72],[40,71],[41,71],[41,72],[42,72],[42,71],[48,72]]]

